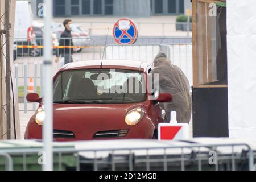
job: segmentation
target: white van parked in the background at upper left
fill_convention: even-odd
[[[36,48],[16,48],[17,45],[36,45],[32,22],[33,14],[30,2],[16,1],[14,24],[14,55],[39,55],[39,50]]]

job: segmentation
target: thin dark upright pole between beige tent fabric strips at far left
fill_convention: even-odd
[[[6,127],[7,139],[11,139],[11,66],[10,66],[10,1],[5,0],[5,45],[6,45]]]

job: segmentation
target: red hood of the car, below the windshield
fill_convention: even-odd
[[[125,114],[143,104],[53,104],[53,127],[92,137],[98,131],[129,129]]]

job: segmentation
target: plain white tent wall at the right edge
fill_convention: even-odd
[[[230,138],[256,137],[256,1],[227,1]]]

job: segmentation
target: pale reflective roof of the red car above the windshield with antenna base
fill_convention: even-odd
[[[64,69],[72,69],[79,67],[89,67],[89,66],[99,66],[101,65],[101,60],[86,60],[77,61],[64,65]],[[121,59],[104,59],[102,61],[102,67],[105,66],[117,66],[117,67],[133,67],[146,70],[150,63],[146,61],[135,61],[135,60],[121,60]]]

